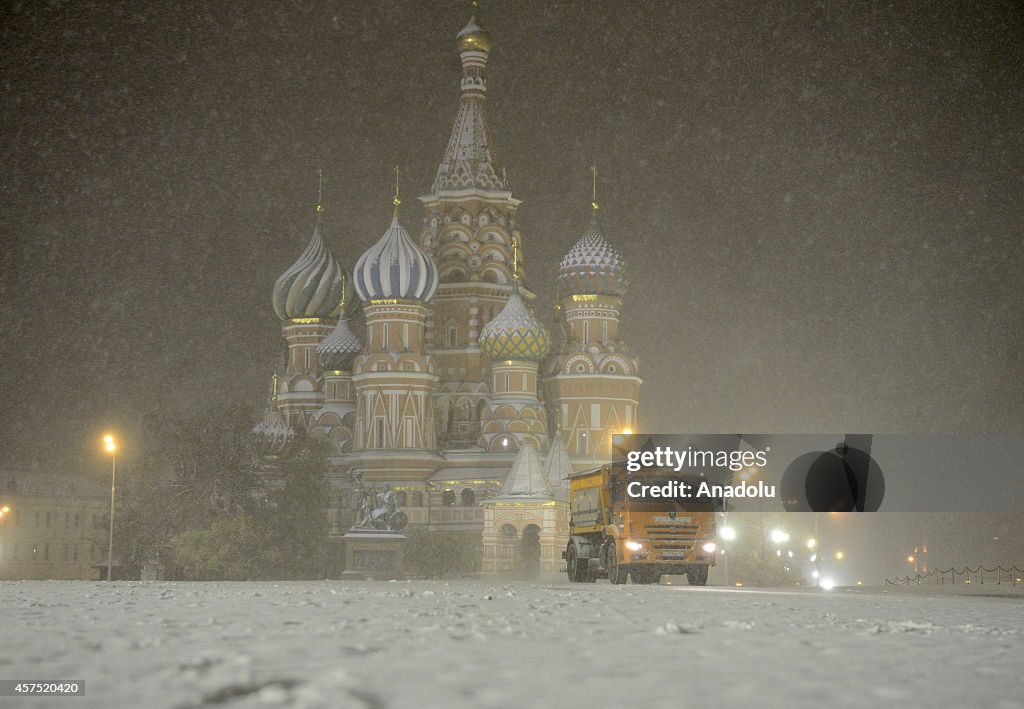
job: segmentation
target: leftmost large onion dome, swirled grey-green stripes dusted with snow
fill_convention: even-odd
[[[317,222],[299,260],[273,285],[273,311],[282,320],[336,317],[341,276],[341,263],[324,243],[324,227]]]

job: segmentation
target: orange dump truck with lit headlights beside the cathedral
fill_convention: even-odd
[[[720,501],[637,498],[631,483],[665,487],[687,482],[671,470],[628,473],[603,465],[569,477],[569,542],[563,556],[569,581],[657,583],[663,574],[685,574],[690,585],[708,583],[715,566],[715,512]],[[696,490],[700,478],[692,479]],[[636,489],[636,486],[634,486]]]

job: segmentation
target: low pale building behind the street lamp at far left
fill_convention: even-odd
[[[110,494],[81,475],[0,472],[0,580],[98,579]]]

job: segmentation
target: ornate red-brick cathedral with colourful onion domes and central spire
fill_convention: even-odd
[[[297,432],[322,437],[333,534],[351,525],[361,473],[396,491],[411,525],[481,535],[481,573],[553,573],[568,475],[607,462],[612,434],[637,428],[638,361],[620,333],[629,281],[595,200],[566,240],[553,327],[535,315],[520,201],[486,113],[490,37],[474,16],[457,45],[459,112],[418,238],[396,195],[380,240],[343,265],[318,206],[308,246],[274,284],[287,358],[254,431],[261,479],[283,484],[273,460]]]

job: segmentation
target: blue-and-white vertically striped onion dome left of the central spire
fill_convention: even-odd
[[[364,301],[394,298],[427,302],[437,291],[437,266],[410,238],[395,214],[380,241],[359,256],[352,280]]]

